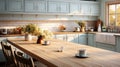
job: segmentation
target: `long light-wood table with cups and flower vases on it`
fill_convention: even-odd
[[[49,39],[49,45],[36,44],[36,40],[7,39],[7,41],[48,67],[120,67],[120,53],[88,45]],[[60,49],[62,52],[59,52]],[[85,49],[87,58],[75,55]]]

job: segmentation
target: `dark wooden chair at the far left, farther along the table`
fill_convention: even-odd
[[[15,62],[15,58],[14,58],[14,54],[12,51],[12,48],[10,45],[6,45],[6,43],[4,41],[1,41],[1,46],[2,46],[2,51],[3,54],[6,58],[6,67],[16,67],[16,62]]]

